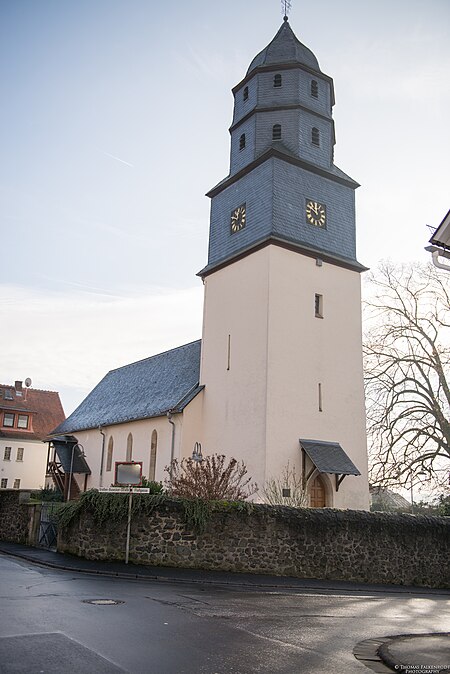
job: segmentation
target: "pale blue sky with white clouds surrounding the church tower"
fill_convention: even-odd
[[[450,2],[292,0],[289,20],[334,80],[359,261],[427,261],[450,207]],[[279,0],[1,0],[1,383],[69,414],[201,336],[231,88],[281,23]]]

